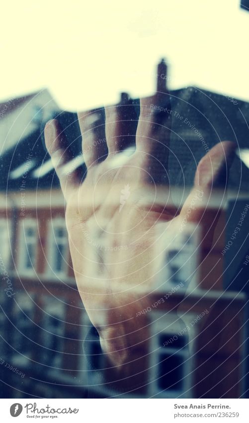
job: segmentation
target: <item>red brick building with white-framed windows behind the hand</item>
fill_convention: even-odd
[[[176,169],[169,175],[171,183],[179,188],[173,193],[174,202],[180,204],[182,187],[193,178],[195,160],[220,139],[236,139],[241,148],[246,148],[248,127],[243,122],[238,125],[234,104],[223,96],[193,87],[171,95],[172,110],[184,116],[184,120],[179,120],[177,114],[173,116],[169,157],[171,168]],[[249,122],[248,104],[239,104]],[[218,111],[214,111],[214,105]],[[5,277],[0,292],[2,395],[81,398],[88,386],[94,395],[105,392],[107,396],[118,396],[108,388],[100,391],[94,372],[87,372],[82,344],[90,324],[74,279],[64,198],[42,135],[44,123],[57,116],[69,141],[74,141],[75,157],[70,169],[84,166],[76,115],[61,113],[46,90],[6,102],[2,109],[0,266]],[[195,132],[197,127],[202,128],[198,131],[202,139]],[[142,364],[147,382],[127,396],[233,398],[245,392],[247,380],[242,376],[247,366],[247,289],[232,283],[233,270],[224,278],[229,254],[222,256],[221,252],[248,202],[248,181],[248,168],[236,157],[230,174],[229,201],[222,210],[212,252],[204,260],[193,256],[201,262],[193,282],[195,290],[186,294],[179,289],[160,303],[170,287],[155,294],[153,304],[157,303],[157,307],[152,304],[147,312],[150,343]],[[188,188],[184,189],[186,194]],[[234,202],[239,211],[233,214],[230,208]],[[246,230],[248,220],[244,225]],[[233,267],[235,270],[248,251],[245,234],[244,238],[240,234],[241,256]],[[190,248],[194,251],[195,244],[188,245],[188,252]],[[181,273],[184,251],[180,256],[172,254],[168,272],[177,274],[176,281],[169,275],[173,286],[186,275]],[[242,282],[246,282],[245,278],[244,275]],[[180,319],[176,318],[179,314],[183,314]],[[191,330],[186,329],[190,326]],[[90,352],[95,354],[97,366],[105,367],[94,344]]]

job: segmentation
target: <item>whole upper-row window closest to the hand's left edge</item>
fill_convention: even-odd
[[[68,267],[68,233],[65,220],[53,219],[49,229],[48,273],[64,276]]]

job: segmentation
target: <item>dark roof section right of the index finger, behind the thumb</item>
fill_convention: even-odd
[[[172,183],[191,184],[196,162],[220,141],[234,141],[239,148],[249,148],[248,102],[196,87],[173,91],[171,95],[172,110],[183,117],[180,120],[173,114],[172,119],[169,154]],[[230,170],[229,186],[248,190],[249,169],[238,156]]]

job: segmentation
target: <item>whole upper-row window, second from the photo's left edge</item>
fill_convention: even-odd
[[[33,274],[37,255],[37,221],[24,219],[20,222],[20,259],[19,270],[24,274]]]

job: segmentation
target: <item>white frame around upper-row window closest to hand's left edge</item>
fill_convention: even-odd
[[[63,245],[66,247],[65,255],[63,256],[63,268],[60,272],[55,269],[55,229],[62,228],[65,231],[65,237],[62,238]],[[61,240],[61,238],[60,238]],[[65,219],[62,217],[56,217],[52,219],[48,224],[48,236],[47,236],[47,266],[46,266],[46,276],[51,279],[65,279],[68,278],[69,273],[69,243],[68,243],[68,233],[66,228]]]

